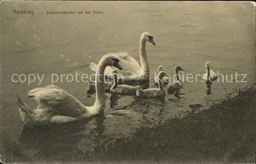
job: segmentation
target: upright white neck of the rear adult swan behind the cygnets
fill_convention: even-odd
[[[140,65],[141,71],[146,78],[150,78],[150,67],[146,56],[146,40],[143,35],[140,37]]]

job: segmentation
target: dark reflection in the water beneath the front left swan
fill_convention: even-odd
[[[54,126],[24,126],[19,137],[19,144],[26,145],[31,149],[52,150],[60,147],[73,147],[81,138],[88,137],[90,132],[99,137],[105,130],[103,125],[104,117],[97,116],[87,121],[78,121]],[[95,123],[96,128],[91,128]],[[90,125],[90,126],[88,126]],[[93,127],[93,126],[92,126]]]

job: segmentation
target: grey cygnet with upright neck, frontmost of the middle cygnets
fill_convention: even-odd
[[[137,89],[136,96],[142,99],[151,99],[157,98],[161,102],[165,101],[165,89],[163,86],[163,82],[161,80],[161,74],[163,72],[158,73],[158,88],[147,88],[147,89]]]

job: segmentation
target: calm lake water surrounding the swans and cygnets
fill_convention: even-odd
[[[34,10],[34,15],[17,15],[13,10]],[[48,10],[104,11],[104,14],[46,14]],[[211,94],[206,85],[187,82],[187,74],[204,74],[205,62],[230,81],[235,74],[246,74],[245,81],[255,82],[255,8],[249,2],[3,2],[1,3],[1,135],[19,144],[29,155],[44,154],[46,150],[62,147],[86,151],[95,140],[131,135],[141,125],[170,118],[189,109],[190,104],[207,105],[225,97],[235,87],[247,83],[236,81],[214,83]],[[52,129],[28,129],[19,118],[16,93],[29,106],[36,102],[26,98],[26,92],[38,86],[39,80],[12,82],[13,74],[44,75],[40,85],[51,84],[51,74],[92,74],[90,62],[97,63],[107,52],[128,52],[139,61],[139,38],[150,32],[156,45],[147,43],[147,58],[151,70],[151,87],[158,65],[173,74],[175,65],[184,70],[186,95],[180,101],[166,96],[166,105],[132,97],[120,97],[116,115],[92,119]],[[181,76],[182,77],[182,76]],[[242,80],[243,76],[237,76]],[[191,79],[189,79],[191,80]],[[220,79],[222,81],[222,79]],[[83,104],[87,83],[54,83],[67,90]],[[226,91],[223,89],[225,87]],[[118,114],[119,113],[119,114]],[[120,114],[121,113],[121,114]]]

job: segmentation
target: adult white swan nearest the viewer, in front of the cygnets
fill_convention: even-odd
[[[37,87],[28,91],[27,94],[28,97],[38,102],[39,105],[36,109],[29,108],[17,95],[17,105],[23,122],[29,126],[62,124],[104,114],[105,84],[102,75],[107,65],[122,69],[115,55],[102,56],[96,69],[96,100],[93,106],[84,106],[74,96],[58,86]]]

